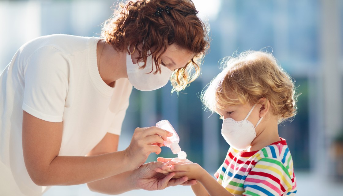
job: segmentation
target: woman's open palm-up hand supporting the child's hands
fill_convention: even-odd
[[[176,185],[195,185],[197,181],[188,181],[188,177],[182,176],[177,179],[172,179],[175,173],[169,173],[164,175],[162,173],[157,173],[155,170],[163,166],[163,162],[150,162],[141,165],[139,168],[133,171],[133,176],[135,187],[137,189],[144,189],[148,191],[161,190],[169,186]]]

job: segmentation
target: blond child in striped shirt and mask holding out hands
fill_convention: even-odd
[[[218,183],[189,160],[158,158],[166,164],[155,171],[197,180],[196,195],[295,195],[292,156],[277,125],[296,114],[297,94],[276,59],[262,51],[228,58],[201,99],[223,119],[222,136],[230,145],[214,174]]]

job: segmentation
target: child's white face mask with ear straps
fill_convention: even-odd
[[[225,118],[223,120],[222,136],[230,146],[237,150],[248,149],[252,140],[256,137],[255,128],[260,124],[263,117],[257,122],[256,127],[247,120],[255,105],[252,106],[244,120],[238,122],[233,118]]]

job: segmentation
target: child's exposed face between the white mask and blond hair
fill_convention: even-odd
[[[223,119],[233,118],[236,121],[240,121],[244,120],[252,106],[253,104],[251,103],[228,106],[225,109],[218,109],[218,113]],[[255,108],[252,110],[251,114],[247,118],[247,120],[249,120],[253,125],[256,125],[258,120],[260,119],[260,110],[261,105],[256,104]]]

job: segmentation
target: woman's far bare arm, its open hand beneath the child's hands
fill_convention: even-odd
[[[117,151],[118,141],[118,135],[107,133],[98,145],[87,154],[87,156]],[[155,169],[160,168],[162,164],[162,162],[147,163],[133,171],[124,172],[103,180],[87,183],[87,185],[91,191],[104,194],[121,194],[133,189],[145,189],[152,191],[164,189],[168,186],[179,185],[181,183],[185,185],[193,185],[196,183],[195,181],[186,181],[188,178],[171,179],[174,174],[166,176],[155,172]]]

